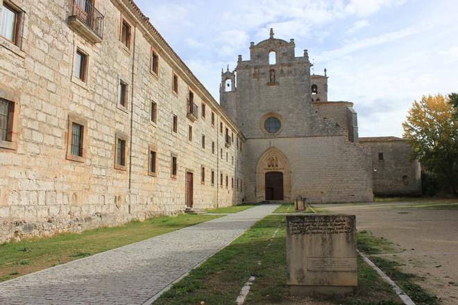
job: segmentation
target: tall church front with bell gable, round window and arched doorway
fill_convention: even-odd
[[[222,73],[221,105],[246,137],[246,201],[269,200],[270,172],[280,173],[285,202],[298,196],[311,203],[372,201],[371,153],[357,143],[353,103],[327,102],[328,77],[311,76],[307,50],[296,57],[294,48],[294,40],[271,32],[251,43],[249,60],[239,55],[235,71]],[[228,91],[223,85],[235,73],[237,84]],[[316,96],[322,102],[312,103]],[[280,121],[278,130],[266,130],[268,119]]]

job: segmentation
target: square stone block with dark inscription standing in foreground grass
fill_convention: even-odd
[[[348,293],[357,286],[355,215],[289,215],[286,244],[292,295]]]

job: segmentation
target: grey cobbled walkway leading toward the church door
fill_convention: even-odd
[[[0,284],[0,304],[144,304],[271,214],[264,204]]]

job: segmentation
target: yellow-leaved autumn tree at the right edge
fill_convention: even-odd
[[[458,99],[458,94],[423,96],[414,101],[402,123],[404,138],[414,148],[412,157],[451,193],[456,193],[458,181],[458,108],[452,105],[454,98]]]

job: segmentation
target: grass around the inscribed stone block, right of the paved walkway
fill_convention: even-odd
[[[278,234],[266,250],[278,225]],[[289,296],[286,284],[285,235],[285,216],[267,216],[192,270],[155,304],[234,304],[251,275],[256,279],[245,304],[301,304],[303,299]],[[262,261],[261,265],[257,265],[257,261]],[[388,284],[361,258],[358,282],[358,288],[348,295],[314,297],[334,304],[402,304]]]

